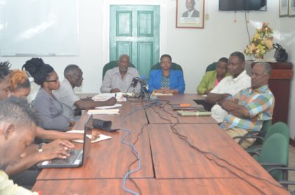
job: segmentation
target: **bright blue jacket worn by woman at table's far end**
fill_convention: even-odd
[[[162,69],[152,69],[150,72],[150,79],[148,80],[148,92],[152,93],[155,89],[161,88]],[[183,72],[181,70],[170,69],[170,89],[178,89],[179,93],[185,90],[185,83],[183,79]]]

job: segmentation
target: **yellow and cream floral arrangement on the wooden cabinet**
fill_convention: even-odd
[[[263,58],[263,55],[273,49],[273,29],[268,23],[263,22],[262,27],[256,29],[251,43],[244,49],[246,55],[254,55],[255,58]]]

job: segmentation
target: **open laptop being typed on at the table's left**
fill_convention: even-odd
[[[93,116],[89,115],[84,126],[84,142],[82,149],[69,150],[70,156],[67,159],[53,159],[51,161],[42,161],[37,163],[39,168],[71,168],[82,166],[89,155],[91,147],[91,139],[87,134],[92,134],[93,129]]]

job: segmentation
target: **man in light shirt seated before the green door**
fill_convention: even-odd
[[[138,78],[138,71],[129,67],[129,56],[121,55],[118,60],[118,67],[109,69],[105,73],[100,93],[140,93],[140,83],[133,86],[133,79]]]

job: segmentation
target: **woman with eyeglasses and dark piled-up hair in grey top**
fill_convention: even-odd
[[[60,88],[58,74],[51,65],[47,65],[41,58],[32,58],[22,66],[34,78],[34,82],[41,86],[32,106],[38,110],[44,129],[66,131],[72,129],[74,121],[63,116],[63,105],[53,95],[53,90]]]

